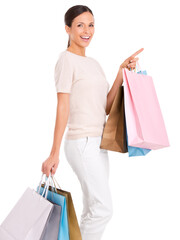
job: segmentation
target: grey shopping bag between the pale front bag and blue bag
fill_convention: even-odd
[[[47,222],[40,240],[57,240],[59,234],[59,224],[61,216],[61,206],[53,203],[53,210]]]

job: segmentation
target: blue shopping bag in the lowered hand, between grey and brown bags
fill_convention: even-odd
[[[38,189],[39,189],[39,186],[37,187],[37,191]],[[44,191],[44,187],[41,186],[39,193],[42,194],[43,191]],[[58,240],[70,240],[66,197],[56,192],[52,192],[48,190],[47,200],[61,206],[61,217],[60,217],[60,224],[59,224]]]

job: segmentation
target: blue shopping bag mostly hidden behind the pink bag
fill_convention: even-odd
[[[140,70],[137,73],[147,75],[146,70],[144,70],[144,71]],[[148,154],[151,151],[151,149],[147,149],[147,148],[138,148],[138,147],[129,146],[128,145],[127,128],[126,128],[126,138],[127,138],[127,146],[128,146],[129,157],[145,156],[146,154]]]

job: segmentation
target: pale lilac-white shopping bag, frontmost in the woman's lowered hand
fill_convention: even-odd
[[[43,180],[41,177],[40,184]],[[39,240],[50,218],[53,204],[47,197],[49,178],[45,181],[42,195],[27,188],[0,227],[2,240]],[[43,197],[45,193],[45,197]]]

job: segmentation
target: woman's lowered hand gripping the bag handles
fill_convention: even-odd
[[[50,155],[43,163],[41,171],[46,174],[47,177],[49,177],[49,174],[51,172],[51,175],[54,175],[57,167],[59,165],[59,154]]]

